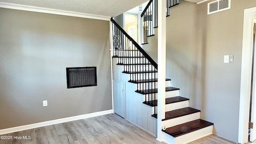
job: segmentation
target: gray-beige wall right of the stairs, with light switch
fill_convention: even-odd
[[[191,107],[202,111],[202,119],[214,123],[215,134],[237,142],[243,16],[256,2],[232,0],[230,10],[207,15],[208,2],[180,0],[171,8],[166,77],[180,88],[180,96],[190,98]],[[152,57],[154,51],[149,50]],[[234,55],[234,63],[224,63],[224,55]]]

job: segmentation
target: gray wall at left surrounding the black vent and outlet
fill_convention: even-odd
[[[0,8],[0,129],[111,110],[109,49],[108,21]],[[98,86],[67,89],[83,66]]]

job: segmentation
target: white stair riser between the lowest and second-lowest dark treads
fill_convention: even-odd
[[[200,112],[196,112],[194,114],[188,114],[186,116],[180,116],[178,118],[172,118],[170,120],[164,120],[163,125],[166,128],[170,128],[172,126],[176,126],[176,125],[183,124],[183,123],[190,122],[197,119],[200,119]]]

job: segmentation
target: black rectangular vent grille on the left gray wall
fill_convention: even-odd
[[[66,68],[66,72],[68,88],[97,86],[96,66]]]

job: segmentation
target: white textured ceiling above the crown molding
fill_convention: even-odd
[[[38,6],[101,16],[117,16],[148,0],[0,0],[12,4]]]

